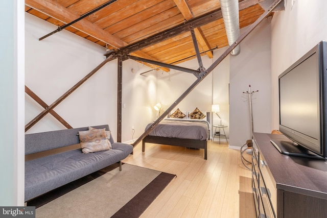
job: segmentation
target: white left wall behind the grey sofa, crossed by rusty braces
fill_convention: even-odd
[[[26,13],[25,84],[48,105],[55,102],[104,61],[103,54],[106,52],[104,47],[65,30],[42,41],[38,40],[39,37],[55,29],[56,27],[51,23]],[[132,74],[131,68],[142,70],[147,67],[135,61],[123,62],[123,103],[125,108],[123,108],[122,141],[131,140],[131,126],[142,124],[133,117],[143,113],[144,120],[151,122],[152,116],[152,114],[144,113],[145,102],[148,100],[138,98],[139,94],[143,96],[142,94],[147,92],[147,86],[145,86],[147,80],[139,76],[138,72]],[[73,128],[109,124],[116,140],[117,78],[117,60],[113,60],[70,94],[54,108],[54,111]],[[43,108],[27,94],[25,104],[25,123],[28,124],[43,111]],[[47,114],[27,133],[59,129],[65,129],[65,127],[51,114]],[[135,128],[135,135],[141,129]]]

